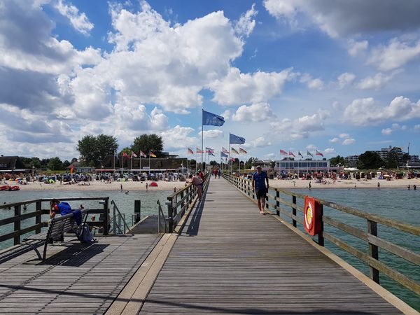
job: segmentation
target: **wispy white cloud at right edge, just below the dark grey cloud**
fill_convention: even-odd
[[[420,41],[402,42],[398,38],[393,38],[388,45],[379,45],[374,48],[368,63],[376,64],[381,71],[389,71],[400,68],[419,57]]]

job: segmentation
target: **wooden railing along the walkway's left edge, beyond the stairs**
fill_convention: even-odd
[[[209,186],[210,173],[204,176],[203,194]],[[193,184],[188,184],[185,188],[169,195],[167,197],[168,207],[168,229],[169,233],[174,232],[174,228],[181,220],[182,216],[186,213],[188,207],[193,202],[195,195],[197,195],[197,188]]]

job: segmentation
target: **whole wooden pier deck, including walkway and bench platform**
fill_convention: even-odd
[[[33,251],[1,263],[0,313],[418,314],[275,214],[260,215],[225,179],[211,179],[186,211],[179,233],[102,237],[43,263]]]

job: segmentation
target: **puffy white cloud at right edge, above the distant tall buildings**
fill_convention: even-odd
[[[381,106],[372,97],[355,99],[344,110],[347,123],[352,125],[380,125],[387,120],[405,121],[420,118],[420,101],[411,102],[406,97],[395,97],[388,106]]]

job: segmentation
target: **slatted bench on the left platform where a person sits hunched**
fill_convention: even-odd
[[[73,232],[76,234],[76,237],[80,239],[81,227],[83,223],[86,223],[88,211],[88,209],[80,211],[82,215],[82,224],[80,225],[77,225],[74,220],[74,213],[66,214],[65,216],[57,216],[50,220],[47,232],[25,237],[22,241],[34,249],[39,260],[45,260],[48,244],[53,244],[54,241],[64,241],[64,233]],[[39,253],[37,247],[42,244],[44,244],[44,248],[43,255],[41,257],[41,253]]]

